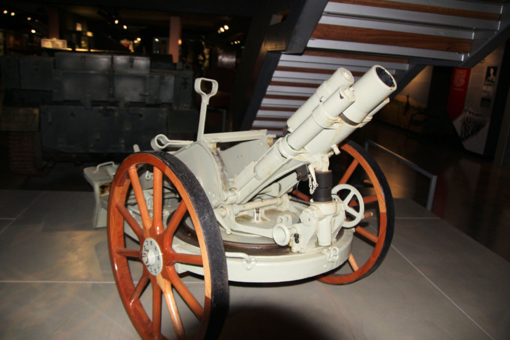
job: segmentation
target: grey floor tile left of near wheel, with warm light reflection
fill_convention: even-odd
[[[39,194],[0,234],[0,280],[112,281],[93,205],[92,193]]]

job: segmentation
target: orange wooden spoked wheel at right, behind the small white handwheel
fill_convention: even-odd
[[[339,147],[340,154],[329,160],[334,183],[356,188],[362,198],[352,193],[340,197],[348,202],[349,207],[354,208],[352,211],[346,210],[349,213],[347,217],[352,216],[348,218],[346,226],[355,228],[356,238],[347,261],[349,265],[344,264],[318,278],[331,284],[352,283],[373,273],[390,249],[395,223],[393,197],[380,167],[365,149],[352,141],[346,141]],[[302,193],[298,193],[298,197],[305,198]],[[360,209],[355,208],[360,205],[360,199],[365,205],[365,212],[363,219],[354,226],[351,225],[354,217],[360,216]]]

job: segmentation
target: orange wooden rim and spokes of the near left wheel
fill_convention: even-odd
[[[174,213],[174,216],[179,215],[179,218],[183,218],[186,211],[189,213],[196,230],[198,243],[200,246],[200,255],[180,254],[171,249],[171,239],[173,238],[173,232],[175,231],[175,228],[180,221],[176,221],[172,217],[167,228],[164,229],[163,221],[160,218],[154,218],[151,220],[148,216],[148,212],[142,211],[146,210],[147,207],[144,207],[145,200],[141,199],[140,197],[141,186],[139,182],[137,183],[138,175],[136,172],[137,167],[142,164],[152,165],[155,169],[155,190],[153,195],[155,200],[154,216],[162,215],[160,208],[156,206],[159,206],[160,204],[162,205],[162,176],[165,175],[172,182],[175,189],[182,197],[182,203],[180,204],[179,208],[177,208],[179,213]],[[122,210],[130,185],[132,185],[135,195],[138,196],[137,204],[139,204],[140,213],[142,215],[142,226],[139,227],[142,230],[137,230],[136,226],[131,226],[131,224],[137,222],[134,218],[130,219],[129,216],[126,215],[127,211]],[[141,195],[143,197],[143,194]],[[140,202],[143,203],[140,204]],[[129,212],[127,212],[127,214],[129,215]],[[133,283],[134,278],[131,275],[129,263],[127,260],[128,257],[135,257],[136,250],[126,249],[124,242],[124,220],[130,224],[132,229],[139,237],[140,249],[138,253],[141,252],[141,245],[143,244],[143,240],[149,237],[157,241],[163,253],[163,264],[165,267],[163,271],[157,276],[154,276],[150,274],[144,266],[141,277],[136,281],[136,286]],[[140,237],[142,239],[140,239]],[[182,328],[179,311],[176,310],[175,301],[173,300],[173,293],[171,290],[172,286],[175,287],[176,291],[180,293],[183,300],[190,306],[190,308],[201,321],[197,337],[201,338],[204,336],[208,327],[211,313],[211,272],[205,240],[203,239],[202,229],[196,213],[196,209],[193,206],[193,203],[186,189],[184,188],[181,181],[177,178],[177,176],[173,173],[173,171],[157,156],[148,153],[135,153],[129,156],[117,169],[109,198],[108,245],[113,275],[115,277],[115,282],[122,303],[133,325],[142,338],[163,338],[161,334],[161,293],[163,293],[165,301],[167,301],[168,309],[177,337],[185,337],[185,332]],[[177,275],[174,268],[174,263],[176,262],[190,263],[194,265],[201,264],[203,266],[205,281],[205,298],[203,301],[203,308],[198,304],[198,302],[196,302],[195,297],[191,294],[191,292],[189,292],[189,290],[187,290],[187,288],[184,286],[184,283]],[[148,281],[150,281],[153,291],[152,320],[147,315],[147,312],[145,311],[140,301],[140,294],[142,293],[144,286],[148,283]],[[172,309],[174,310],[173,313]]]

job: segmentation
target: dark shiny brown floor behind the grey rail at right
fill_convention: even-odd
[[[351,137],[361,145],[374,141],[437,175],[432,213],[510,261],[510,166],[464,150],[456,136],[416,136],[377,121]],[[369,153],[394,198],[425,206],[429,178],[373,146]]]

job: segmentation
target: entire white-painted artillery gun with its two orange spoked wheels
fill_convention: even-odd
[[[356,82],[339,68],[276,140],[266,130],[203,134],[217,88],[214,80],[195,82],[202,97],[196,142],[158,135],[155,151],[85,169],[96,192],[96,226],[108,220],[122,302],[143,338],[217,336],[228,280],[350,283],[372,273],[390,247],[387,181],[346,141],[396,89],[385,68],[376,65]],[[311,198],[296,190],[306,181]]]

